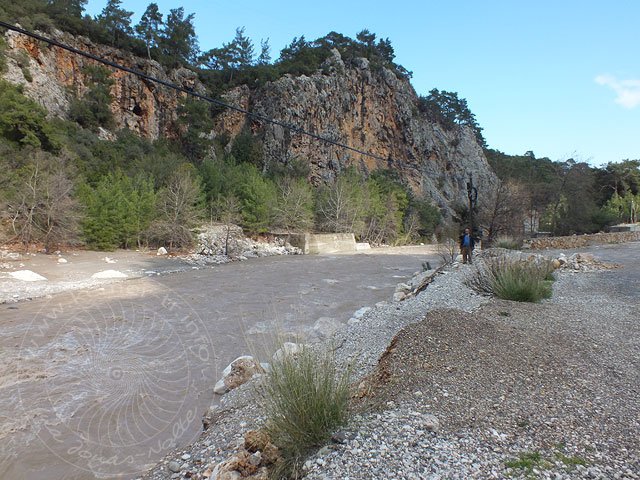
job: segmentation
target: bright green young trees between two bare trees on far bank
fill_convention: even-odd
[[[130,178],[121,171],[105,175],[80,194],[86,209],[83,232],[97,250],[140,246],[155,215],[156,193],[150,179]]]

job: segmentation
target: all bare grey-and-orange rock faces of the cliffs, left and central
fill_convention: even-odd
[[[95,45],[81,37],[62,32],[55,37],[162,80],[202,88],[189,70],[165,72],[155,61]],[[64,117],[71,99],[87,90],[84,66],[94,62],[17,33],[8,32],[6,40],[5,78],[24,85],[25,93],[51,115]],[[112,78],[111,110],[117,128],[126,127],[152,139],[178,134],[174,120],[179,93],[121,71],[114,71]],[[481,195],[497,181],[469,128],[445,130],[427,121],[418,111],[418,98],[408,80],[388,69],[371,68],[364,58],[345,62],[337,50],[312,76],[285,75],[257,89],[237,88],[227,93],[225,101],[379,157],[374,159],[278,125],[252,121],[235,111],[220,114],[213,135],[225,134],[220,138],[233,139],[243,128],[250,128],[263,142],[267,168],[273,162],[306,159],[316,182],[334,177],[349,165],[365,172],[392,168],[416,193],[433,198],[445,213],[451,213],[456,204],[466,204],[469,176]]]

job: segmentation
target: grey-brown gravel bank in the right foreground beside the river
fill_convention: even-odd
[[[623,268],[561,272],[540,304],[476,295],[458,266],[352,323],[337,354],[362,398],[306,478],[640,478],[640,255],[616,248]],[[260,424],[245,387],[148,478],[208,478]]]

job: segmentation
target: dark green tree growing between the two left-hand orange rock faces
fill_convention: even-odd
[[[112,129],[111,87],[114,84],[111,72],[101,66],[85,67],[89,88],[81,98],[74,98],[69,106],[69,118],[84,128],[97,131],[99,127]]]

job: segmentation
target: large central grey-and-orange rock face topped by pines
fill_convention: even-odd
[[[447,131],[429,122],[419,113],[418,97],[408,80],[388,69],[373,70],[366,59],[347,64],[337,50],[312,76],[285,75],[256,90],[238,88],[226,100],[380,157],[345,150],[280,125],[247,123],[237,112],[226,111],[217,118],[217,130],[230,138],[247,126],[260,135],[267,162],[296,157],[309,161],[316,183],[350,165],[365,172],[391,168],[416,193],[431,197],[451,213],[454,205],[467,204],[470,176],[480,195],[497,182],[469,127]]]

